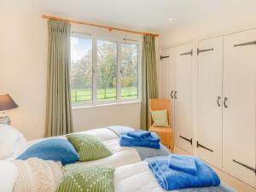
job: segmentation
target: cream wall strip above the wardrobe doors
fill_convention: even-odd
[[[239,3],[239,6],[230,2],[230,8],[224,12],[204,16],[200,20],[191,19],[182,26],[162,31],[160,32],[160,48],[254,28],[256,27],[255,7],[256,1],[244,1],[244,3]],[[178,18],[174,18],[173,22],[178,22]]]

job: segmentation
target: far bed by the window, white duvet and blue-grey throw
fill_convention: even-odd
[[[91,160],[86,162],[77,162],[88,165],[104,165],[104,166],[125,166],[128,164],[136,163],[141,160],[144,160],[148,157],[166,155],[170,151],[161,145],[159,150],[150,149],[150,148],[130,148],[130,147],[121,147],[119,145],[119,135],[125,131],[133,131],[134,129],[127,126],[113,125],[104,128],[93,129],[89,131],[77,132],[79,134],[88,134],[97,137],[106,147],[112,152],[112,155],[101,160]],[[35,139],[29,142],[24,142],[24,138],[21,139],[22,142],[18,143],[15,146],[15,153],[4,160],[15,160],[20,154],[26,151],[27,148],[30,148],[32,145],[45,141],[52,138],[61,138],[67,139],[66,136],[60,137],[49,137],[43,139]]]

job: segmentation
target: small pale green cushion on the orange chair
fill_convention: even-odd
[[[153,126],[169,127],[167,109],[158,110],[158,111],[151,111],[151,115],[152,115],[152,119],[153,119],[153,122],[154,122]]]

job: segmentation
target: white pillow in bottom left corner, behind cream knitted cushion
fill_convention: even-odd
[[[0,170],[0,191],[12,192],[19,176],[18,168],[13,162],[0,160]]]

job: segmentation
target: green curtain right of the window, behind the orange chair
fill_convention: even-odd
[[[154,36],[143,37],[142,63],[142,104],[141,129],[148,130],[150,122],[149,99],[158,97],[157,68],[155,57]]]

